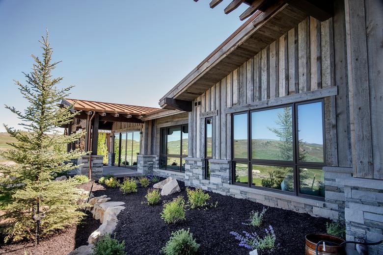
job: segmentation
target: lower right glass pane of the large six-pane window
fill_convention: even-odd
[[[299,169],[299,191],[302,194],[325,197],[325,176],[321,169]]]

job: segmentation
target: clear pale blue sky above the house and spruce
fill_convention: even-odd
[[[3,104],[26,102],[13,79],[41,55],[38,40],[50,33],[54,72],[72,98],[158,107],[158,100],[243,24],[245,5],[229,15],[224,0],[0,0],[0,116],[19,120]],[[4,128],[0,127],[0,131]]]

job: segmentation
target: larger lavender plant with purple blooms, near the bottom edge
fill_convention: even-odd
[[[235,231],[231,231],[230,234],[235,236],[235,239],[239,240],[239,246],[245,247],[249,250],[254,249],[273,249],[275,246],[275,233],[273,227],[270,225],[269,229],[265,229],[266,235],[261,238],[256,232],[248,233],[243,231],[245,236]]]

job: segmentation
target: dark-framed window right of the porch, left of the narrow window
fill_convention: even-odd
[[[184,157],[188,156],[188,125],[161,128],[160,168],[185,172]]]

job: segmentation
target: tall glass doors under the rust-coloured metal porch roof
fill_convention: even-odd
[[[141,134],[139,131],[128,131],[114,134],[114,166],[137,166]]]

